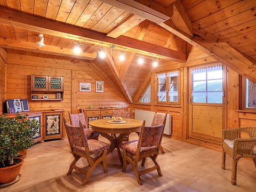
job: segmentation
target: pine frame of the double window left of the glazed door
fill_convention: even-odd
[[[178,101],[170,101],[169,100],[169,85],[170,85],[170,82],[169,82],[169,78],[167,76],[168,73],[173,73],[173,72],[178,72]],[[158,100],[158,92],[159,92],[159,83],[158,83],[158,77],[157,75],[158,74],[165,74],[166,75],[166,101],[159,101]],[[158,73],[156,73],[156,93],[155,93],[155,97],[156,97],[156,104],[162,104],[162,105],[180,105],[180,88],[181,88],[181,84],[180,84],[180,77],[181,76],[181,71],[180,69],[173,69],[173,70],[168,70],[168,71],[160,71]]]

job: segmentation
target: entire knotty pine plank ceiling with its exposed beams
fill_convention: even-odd
[[[2,0],[0,46],[7,53],[83,62],[133,102],[151,58],[186,62],[188,44],[256,82],[256,3],[251,0]],[[45,47],[38,47],[38,34]],[[75,54],[75,43],[83,46]],[[98,49],[108,52],[106,61]],[[138,55],[147,57],[138,65]],[[99,70],[104,68],[104,70]],[[103,72],[104,71],[104,72]]]

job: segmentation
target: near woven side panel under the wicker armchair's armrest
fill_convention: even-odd
[[[236,154],[253,154],[253,149],[256,146],[256,138],[235,139],[234,140],[234,155]]]

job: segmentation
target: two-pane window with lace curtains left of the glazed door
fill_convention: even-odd
[[[179,71],[157,74],[158,103],[179,102]]]

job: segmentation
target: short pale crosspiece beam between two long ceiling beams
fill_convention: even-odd
[[[131,28],[139,25],[142,21],[145,19],[142,17],[139,17],[138,15],[131,14],[130,17],[125,19],[122,23],[120,23],[115,28],[111,29],[107,36],[117,38],[120,35],[123,35],[126,31],[129,31]]]

